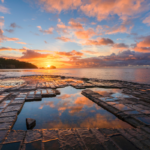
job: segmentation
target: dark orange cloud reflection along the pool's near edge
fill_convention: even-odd
[[[108,116],[96,113],[93,117],[76,120],[75,122],[63,122],[60,119],[55,122],[44,123],[46,128],[131,128],[131,126],[118,118],[109,118]]]

